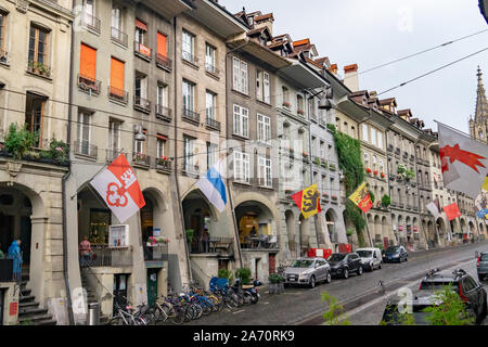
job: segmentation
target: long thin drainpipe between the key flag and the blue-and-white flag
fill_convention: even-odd
[[[175,16],[172,18],[172,35],[174,35],[174,54],[175,57],[177,55],[177,17]],[[180,213],[180,221],[181,221],[181,229],[183,232],[183,243],[184,243],[184,255],[187,256],[187,271],[188,271],[188,278],[190,281],[193,281],[192,277],[192,269],[190,266],[190,252],[188,249],[188,242],[187,242],[187,233],[184,230],[184,216],[183,216],[183,202],[181,201],[181,193],[180,193],[180,181],[178,179],[178,98],[177,98],[177,90],[178,90],[178,64],[175,59],[175,182],[177,188],[177,196],[178,196],[178,210]],[[184,144],[183,144],[184,145]]]

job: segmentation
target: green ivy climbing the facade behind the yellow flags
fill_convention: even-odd
[[[336,131],[335,126],[328,124],[328,128],[334,136],[335,147],[337,150],[339,169],[344,174],[346,197],[350,196],[364,181],[364,166],[361,159],[361,144],[359,140]],[[365,245],[362,230],[365,227],[364,217],[361,210],[350,200],[346,201],[345,217],[356,227],[359,245]]]

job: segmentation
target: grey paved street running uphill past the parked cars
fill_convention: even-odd
[[[269,295],[260,291],[261,298],[257,305],[244,306],[233,312],[224,309],[197,321],[192,325],[295,325],[322,324],[321,314],[325,311],[325,304],[321,303],[320,294],[328,291],[344,305],[345,316],[352,325],[377,325],[382,319],[385,303],[398,288],[407,286],[413,291],[419,287],[421,278],[426,270],[433,268],[454,269],[463,268],[475,280],[475,252],[488,249],[488,242],[479,242],[465,246],[434,252],[411,254],[403,264],[384,264],[382,270],[364,272],[361,277],[351,275],[349,279],[333,279],[330,284],[308,287],[287,287],[282,295]],[[378,282],[383,281],[385,294],[380,293]],[[488,282],[483,283],[488,290]],[[486,324],[485,320],[484,324]]]

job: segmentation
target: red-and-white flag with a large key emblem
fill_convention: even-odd
[[[97,175],[90,184],[121,223],[145,205],[136,174],[124,154]]]

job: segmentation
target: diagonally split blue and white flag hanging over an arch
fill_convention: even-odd
[[[226,172],[226,160],[219,160],[195,184],[219,213],[226,208],[227,204],[226,184],[223,184]]]

